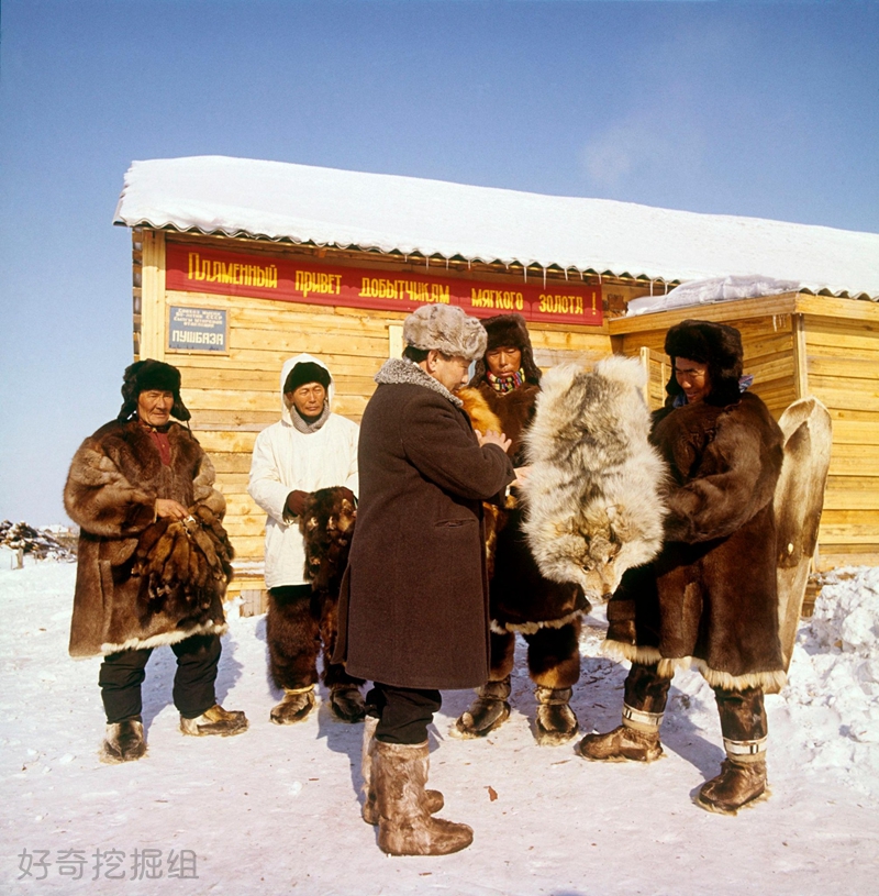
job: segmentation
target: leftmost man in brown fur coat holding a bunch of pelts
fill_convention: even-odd
[[[101,759],[146,752],[141,684],[153,648],[177,655],[174,704],[185,734],[238,734],[244,712],[216,703],[223,598],[232,545],[221,524],[225,500],[188,427],[180,373],[145,359],[125,370],[115,420],[74,456],[64,506],[80,527],[70,654],[103,654],[107,712]]]

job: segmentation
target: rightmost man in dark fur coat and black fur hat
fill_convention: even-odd
[[[665,544],[630,569],[608,605],[608,652],[632,661],[622,726],[578,745],[589,760],[650,762],[671,676],[696,665],[713,687],[726,760],[697,801],[735,814],[766,790],[764,688],[783,683],[778,639],[776,520],[782,434],[742,391],[742,338],[686,320],[666,336],[674,373],[654,414],[653,443],[671,484]]]

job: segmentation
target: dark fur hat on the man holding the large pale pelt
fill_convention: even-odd
[[[723,407],[738,401],[744,350],[742,334],[734,327],[708,320],[676,323],[666,333],[666,354],[672,367],[679,357],[708,364],[711,381],[711,391],[704,399],[708,405]],[[666,391],[672,397],[683,395],[674,370]]]

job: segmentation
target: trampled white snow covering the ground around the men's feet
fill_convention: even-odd
[[[10,560],[0,552],[3,894],[879,888],[879,569],[831,576],[801,628],[791,684],[767,698],[769,800],[735,818],[691,801],[723,757],[713,694],[697,673],[675,679],[661,762],[587,763],[570,745],[538,748],[520,644],[513,715],[501,729],[486,741],[452,739],[470,698],[463,692],[446,693],[436,717],[431,784],[445,793],[443,815],[472,826],[474,844],[387,858],[359,817],[361,727],[333,721],[325,706],[299,726],[269,722],[279,695],[266,677],[265,618],[232,619],[221,662],[220,698],[247,711],[248,732],[183,738],[164,648],[144,686],[147,756],[103,765],[99,660],[66,653],[75,566],[12,569]],[[590,622],[574,705],[586,730],[608,730],[620,719],[625,667],[599,655],[602,621]]]

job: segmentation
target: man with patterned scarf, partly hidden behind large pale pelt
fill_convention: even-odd
[[[512,440],[513,463],[523,462],[522,436],[534,416],[541,391],[541,370],[534,363],[525,320],[521,314],[498,314],[482,321],[488,342],[477,362],[470,389],[477,390],[500,419]],[[490,584],[491,671],[477,690],[472,706],[456,722],[461,737],[481,738],[510,715],[510,674],[515,633],[528,644],[528,672],[537,697],[537,742],[556,745],[578,730],[569,706],[571,688],[580,677],[580,616],[589,602],[572,583],[550,582],[534,561],[522,531],[521,504],[515,491],[500,511]]]

